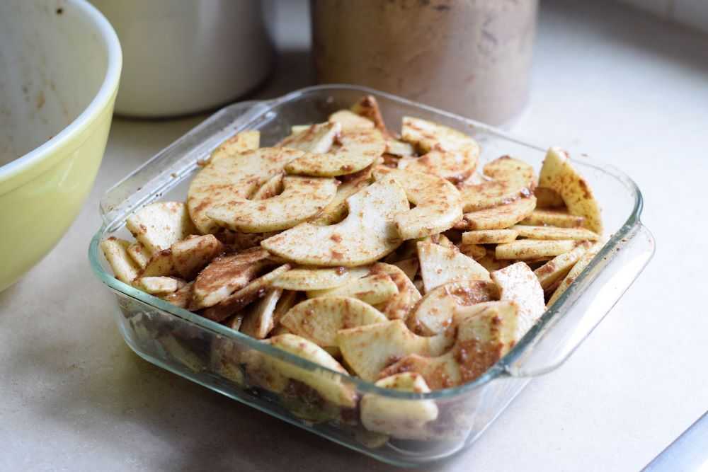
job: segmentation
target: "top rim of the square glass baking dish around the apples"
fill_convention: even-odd
[[[347,85],[347,84],[326,84],[326,85],[321,85],[321,86],[311,86],[311,87],[306,87],[306,88],[301,88],[296,91],[292,91],[290,93],[287,93],[283,96],[280,96],[278,98],[273,98],[272,100],[252,100],[253,105],[256,104],[261,104],[265,105],[264,108],[258,113],[258,115],[251,117],[249,122],[254,122],[258,120],[259,117],[262,117],[263,115],[270,113],[273,108],[277,107],[278,105],[281,105],[282,103],[287,103],[288,101],[295,100],[296,98],[302,97],[306,95],[307,93],[312,93],[312,92],[319,92],[319,91],[327,91],[327,90],[350,90],[350,91],[359,91],[362,93],[371,93],[376,96],[382,96],[384,98],[387,98],[389,100],[396,101],[398,103],[401,103],[403,105],[408,105],[412,106],[415,108],[418,108],[420,110],[425,110],[430,113],[436,113],[438,115],[445,115],[446,117],[449,117],[453,120],[457,120],[459,122],[464,122],[467,125],[471,125],[473,129],[482,129],[485,132],[488,132],[489,134],[494,134],[499,138],[506,139],[508,141],[515,142],[517,144],[523,145],[530,147],[532,149],[536,149],[537,151],[543,152],[546,147],[538,146],[536,144],[532,144],[530,142],[525,141],[524,139],[520,139],[517,137],[514,137],[511,134],[508,134],[507,132],[502,131],[501,129],[497,129],[496,127],[491,127],[489,125],[485,125],[484,123],[477,122],[476,120],[471,120],[466,117],[462,117],[460,115],[455,115],[454,113],[449,113],[444,110],[439,110],[434,107],[430,107],[428,105],[423,105],[421,103],[416,103],[412,100],[407,100],[406,98],[401,98],[398,96],[394,96],[390,93],[385,93],[382,91],[377,91],[372,88],[367,88],[367,87],[362,87],[362,86],[352,86],[352,85]],[[251,100],[249,100],[251,101]],[[236,105],[240,105],[243,102],[237,102],[233,103],[232,105],[228,105],[227,107],[224,107],[220,110],[217,110],[215,113],[207,117],[203,122],[200,122],[197,127],[200,127],[201,125],[204,125],[207,120],[210,120],[212,117],[219,113],[223,113],[228,111],[230,108],[235,107]],[[240,132],[241,130],[244,129],[246,124],[244,126],[240,127],[239,130],[236,132]],[[187,133],[183,134],[182,137],[187,136],[193,132],[193,129],[188,131]],[[181,139],[182,137],[178,138]],[[169,146],[171,146],[170,144]],[[166,149],[166,148],[164,148]],[[158,153],[159,154],[159,153]],[[134,172],[138,171],[139,169],[144,168],[145,166],[149,166],[155,157],[158,155],[156,154],[153,156],[151,159],[146,161],[142,166],[139,166],[136,168],[134,171],[129,173],[128,175],[125,176],[125,178],[122,178],[118,180],[117,183],[115,183],[111,188],[106,190],[105,193],[110,192],[113,188],[116,186],[120,185],[124,180],[130,177]],[[199,328],[206,329],[211,331],[212,333],[215,333],[217,335],[221,335],[225,338],[230,338],[234,341],[239,341],[241,343],[245,343],[245,345],[251,349],[258,350],[260,352],[263,352],[265,355],[271,355],[274,356],[280,360],[283,360],[285,362],[290,362],[290,364],[294,364],[297,367],[301,367],[303,369],[307,369],[309,371],[321,371],[321,372],[326,372],[326,374],[333,376],[335,378],[341,378],[342,381],[350,382],[353,384],[358,392],[362,393],[374,393],[379,396],[386,396],[388,398],[399,398],[401,400],[445,400],[445,399],[450,399],[450,398],[457,398],[458,396],[467,393],[468,391],[473,391],[476,388],[479,388],[481,386],[484,386],[484,384],[496,379],[499,376],[510,376],[510,369],[509,367],[515,362],[517,359],[519,359],[527,349],[532,347],[537,340],[537,336],[543,332],[544,328],[551,322],[556,319],[558,316],[562,316],[564,312],[569,311],[574,302],[576,301],[576,289],[573,289],[574,287],[579,287],[583,284],[583,282],[590,277],[590,273],[593,272],[593,268],[595,265],[598,264],[598,261],[600,260],[610,260],[612,258],[612,255],[616,253],[616,248],[620,246],[621,243],[624,241],[627,241],[634,236],[634,230],[641,224],[640,222],[640,217],[641,217],[641,211],[644,205],[644,200],[641,195],[641,190],[639,190],[639,187],[634,183],[634,180],[630,178],[627,174],[625,174],[622,171],[619,171],[618,168],[615,166],[612,166],[610,164],[605,164],[602,163],[601,161],[589,161],[588,159],[583,159],[583,158],[573,158],[573,161],[577,161],[582,163],[584,166],[588,166],[590,168],[593,168],[595,171],[605,173],[607,175],[610,175],[612,178],[615,178],[616,180],[619,180],[622,185],[624,185],[629,192],[632,192],[632,196],[634,197],[634,207],[632,208],[632,212],[630,212],[629,217],[627,217],[627,220],[624,221],[624,224],[615,232],[615,234],[612,234],[610,238],[607,239],[607,242],[603,246],[603,248],[600,249],[597,255],[595,255],[595,258],[588,264],[585,270],[581,272],[581,275],[579,275],[576,280],[573,282],[571,287],[564,292],[564,294],[561,294],[561,297],[556,301],[556,303],[549,309],[547,309],[543,316],[539,319],[539,321],[519,340],[519,342],[501,359],[499,359],[495,364],[493,364],[492,367],[486,370],[484,374],[481,374],[479,377],[474,379],[474,381],[471,381],[467,384],[462,384],[460,386],[455,386],[455,387],[449,387],[449,388],[443,388],[440,390],[435,390],[431,391],[429,393],[413,393],[413,392],[406,392],[406,391],[398,391],[398,390],[392,390],[389,388],[382,388],[379,386],[376,386],[374,382],[369,382],[365,381],[363,379],[360,379],[358,376],[350,376],[348,374],[342,374],[341,372],[336,372],[334,370],[328,369],[326,367],[322,367],[319,364],[316,364],[314,362],[311,362],[307,359],[304,359],[302,357],[299,357],[297,355],[293,355],[290,352],[286,352],[284,350],[281,350],[278,347],[273,347],[271,345],[263,343],[261,340],[257,340],[255,338],[251,338],[249,335],[245,335],[244,333],[241,333],[240,331],[233,330],[232,328],[228,328],[227,326],[221,325],[219,323],[216,323],[215,321],[211,321],[207,318],[204,318],[202,316],[199,316],[196,313],[192,313],[188,310],[182,309],[178,306],[175,306],[173,304],[169,304],[168,302],[159,299],[157,297],[154,297],[150,294],[147,294],[145,292],[142,292],[139,289],[136,289],[135,287],[130,286],[129,284],[125,284],[124,282],[120,282],[120,280],[116,279],[113,277],[112,274],[106,272],[103,269],[103,265],[101,265],[100,262],[100,251],[98,249],[99,244],[101,243],[101,238],[104,236],[105,231],[110,228],[115,226],[114,222],[107,222],[103,221],[103,224],[101,224],[101,227],[96,231],[96,234],[93,235],[91,238],[91,243],[89,244],[89,263],[91,265],[91,269],[93,270],[94,274],[96,277],[98,277],[101,282],[106,284],[110,289],[112,289],[115,292],[119,292],[120,294],[123,294],[127,297],[130,297],[132,299],[137,299],[138,301],[141,301],[144,304],[147,304],[149,306],[152,306],[156,309],[159,309],[160,311],[164,311],[166,313],[170,313],[172,316],[176,316],[178,318],[181,318],[183,321],[187,321],[189,323],[193,323],[194,325],[198,326]],[[176,181],[176,183],[181,182],[182,179],[179,179]],[[105,194],[104,194],[105,195]],[[150,200],[152,201],[152,200]],[[141,204],[142,205],[142,204]],[[125,217],[125,213],[123,213],[120,217],[115,218],[115,220],[118,219],[123,219]],[[601,273],[602,271],[598,272]],[[593,277],[594,278],[594,277]],[[574,286],[574,287],[573,287]],[[581,294],[577,294],[578,297],[581,296]],[[568,306],[566,306],[568,305]]]

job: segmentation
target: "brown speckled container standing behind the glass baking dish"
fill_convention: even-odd
[[[312,0],[321,84],[500,125],[527,101],[537,0]]]

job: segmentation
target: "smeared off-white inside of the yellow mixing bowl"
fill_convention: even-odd
[[[0,1],[0,171],[55,137],[96,97],[103,39],[74,1]]]

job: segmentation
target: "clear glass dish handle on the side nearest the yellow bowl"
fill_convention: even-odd
[[[113,185],[101,198],[100,205],[108,231],[120,224],[120,215],[134,211],[176,185],[198,161],[207,159],[225,139],[241,131],[251,115],[267,108],[265,103],[253,100],[222,108]]]

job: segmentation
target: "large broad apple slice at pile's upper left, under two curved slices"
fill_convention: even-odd
[[[248,201],[273,175],[282,173],[285,164],[304,155],[290,148],[261,148],[241,154],[212,159],[195,175],[187,193],[190,217],[201,234],[213,234],[219,226],[207,212],[234,201]]]

